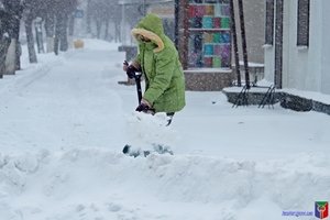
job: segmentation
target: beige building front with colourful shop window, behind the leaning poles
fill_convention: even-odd
[[[232,72],[231,3],[235,11],[239,59],[243,61],[238,1],[177,1],[178,50],[188,90],[221,90],[237,78]],[[263,64],[264,0],[249,0],[243,4],[248,59],[249,63]]]

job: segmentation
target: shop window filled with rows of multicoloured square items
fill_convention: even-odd
[[[229,0],[189,0],[188,68],[230,68]]]

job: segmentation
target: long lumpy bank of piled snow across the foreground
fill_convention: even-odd
[[[279,219],[284,210],[314,210],[316,200],[329,198],[329,166],[317,154],[257,163],[134,160],[100,148],[0,155],[0,212],[24,220],[142,220],[180,219],[188,209],[191,219],[263,219],[268,210]]]

